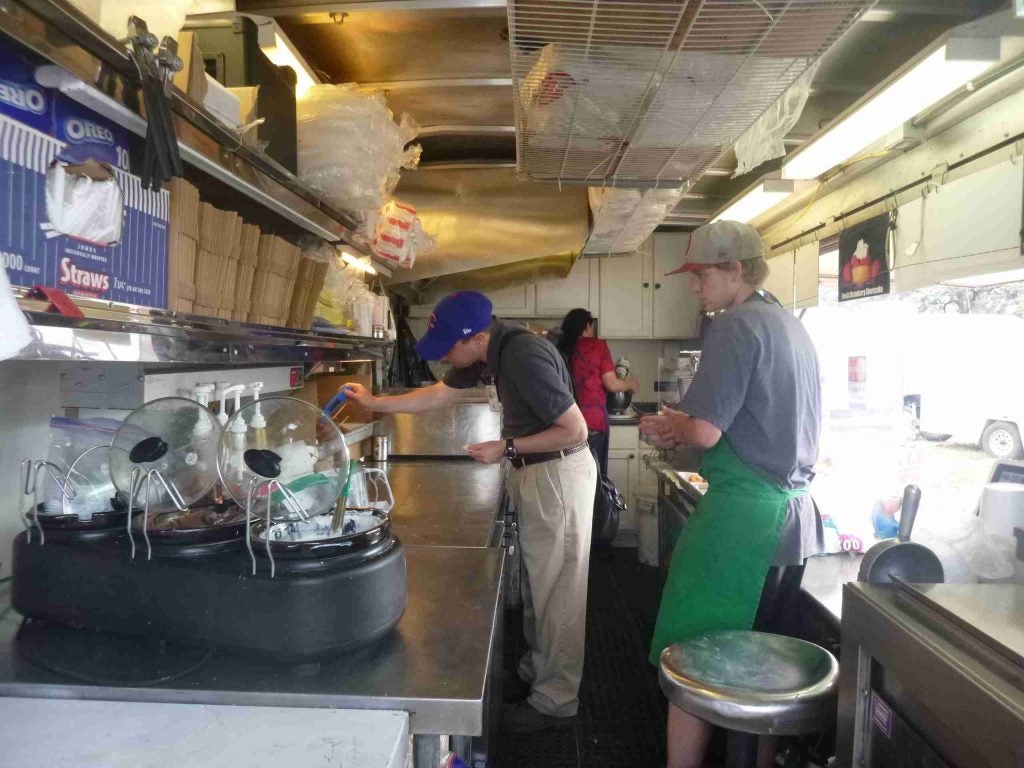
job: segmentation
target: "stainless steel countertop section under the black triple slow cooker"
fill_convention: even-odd
[[[500,664],[492,653],[502,631],[505,551],[407,547],[406,556],[409,604],[381,642],[315,670],[214,654],[180,679],[144,688],[78,682],[25,660],[13,647],[22,617],[8,609],[9,585],[0,585],[0,695],[402,710],[413,733],[478,735],[488,668]]]

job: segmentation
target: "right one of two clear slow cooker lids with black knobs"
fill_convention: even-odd
[[[237,411],[224,427],[217,455],[227,493],[245,508],[253,488],[252,513],[261,519],[266,518],[267,501],[272,520],[330,512],[348,468],[341,430],[321,409],[294,397],[264,397]],[[286,490],[266,480],[276,480]]]

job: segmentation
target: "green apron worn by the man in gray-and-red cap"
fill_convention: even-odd
[[[672,643],[754,625],[790,500],[736,456],[723,436],[703,455],[708,493],[679,535],[654,625],[650,663]]]

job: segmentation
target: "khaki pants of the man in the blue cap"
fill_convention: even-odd
[[[596,487],[589,451],[512,472],[528,646],[519,676],[531,685],[529,703],[546,715],[575,715],[580,706]]]

